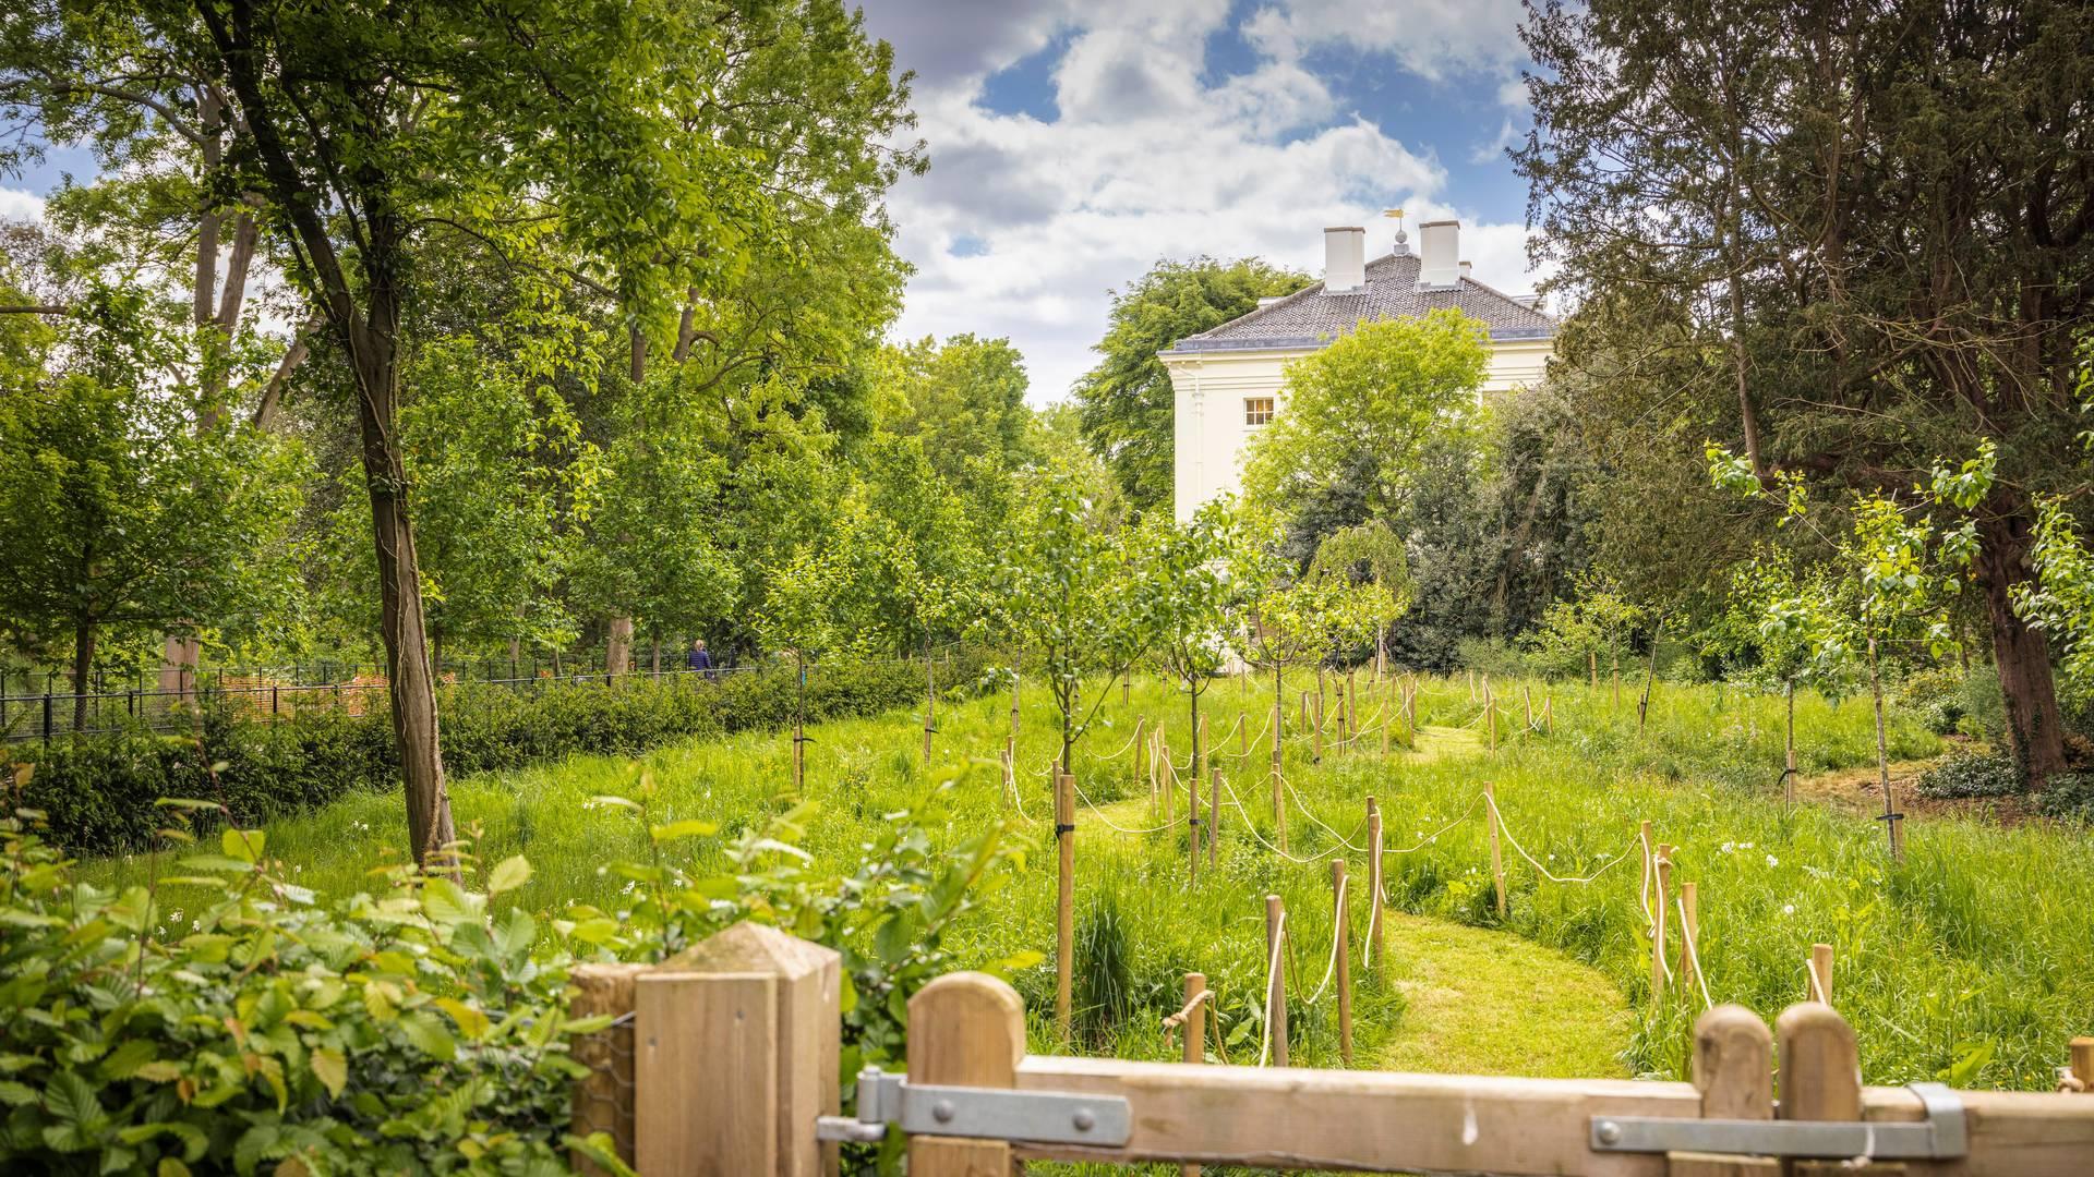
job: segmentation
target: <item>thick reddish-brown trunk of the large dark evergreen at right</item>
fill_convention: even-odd
[[[2014,614],[2012,586],[2029,580],[2029,517],[2021,509],[1979,519],[1977,580],[1991,614],[1991,658],[2000,668],[2000,697],[2006,702],[2006,743],[2029,783],[2042,787],[2052,773],[2065,771],[2065,727],[2050,676],[2050,647],[2042,630],[2029,628]]]

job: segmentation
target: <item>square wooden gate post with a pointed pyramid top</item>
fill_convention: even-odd
[[[842,957],[741,921],[634,984],[634,1169],[817,1177],[838,1169],[815,1118],[836,1114]]]

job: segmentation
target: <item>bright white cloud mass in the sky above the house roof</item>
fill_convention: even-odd
[[[917,90],[932,170],[890,197],[898,249],[917,266],[898,335],[1009,335],[1032,400],[1062,400],[1095,362],[1110,291],[1160,258],[1261,256],[1317,274],[1326,224],[1365,224],[1369,251],[1384,253],[1388,205],[1413,224],[1462,216],[1432,151],[1342,117],[1302,67],[1298,48],[1323,36],[1317,13],[1258,13],[1240,31],[1265,57],[1206,86],[1204,46],[1229,19],[1225,0],[1091,8],[1081,25],[1057,25],[1068,50],[1053,71],[1053,124],[978,105],[982,75]],[[1497,50],[1478,40],[1460,52]],[[1464,220],[1476,279],[1533,289],[1524,230]]]

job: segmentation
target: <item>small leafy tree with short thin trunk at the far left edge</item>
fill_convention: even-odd
[[[295,454],[247,425],[197,427],[178,373],[155,364],[138,299],[98,293],[50,354],[0,396],[0,614],[73,647],[73,727],[88,720],[107,626],[230,612],[287,578]]]

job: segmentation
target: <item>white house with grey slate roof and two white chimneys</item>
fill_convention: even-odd
[[[1363,320],[1418,316],[1457,306],[1491,331],[1483,392],[1537,383],[1554,348],[1556,320],[1533,295],[1499,293],[1468,276],[1462,222],[1418,226],[1418,253],[1397,228],[1395,251],[1367,262],[1367,230],[1323,230],[1323,281],[1212,331],[1179,339],[1162,354],[1177,398],[1177,519],[1202,503],[1242,490],[1244,446],[1288,410],[1282,371]]]

